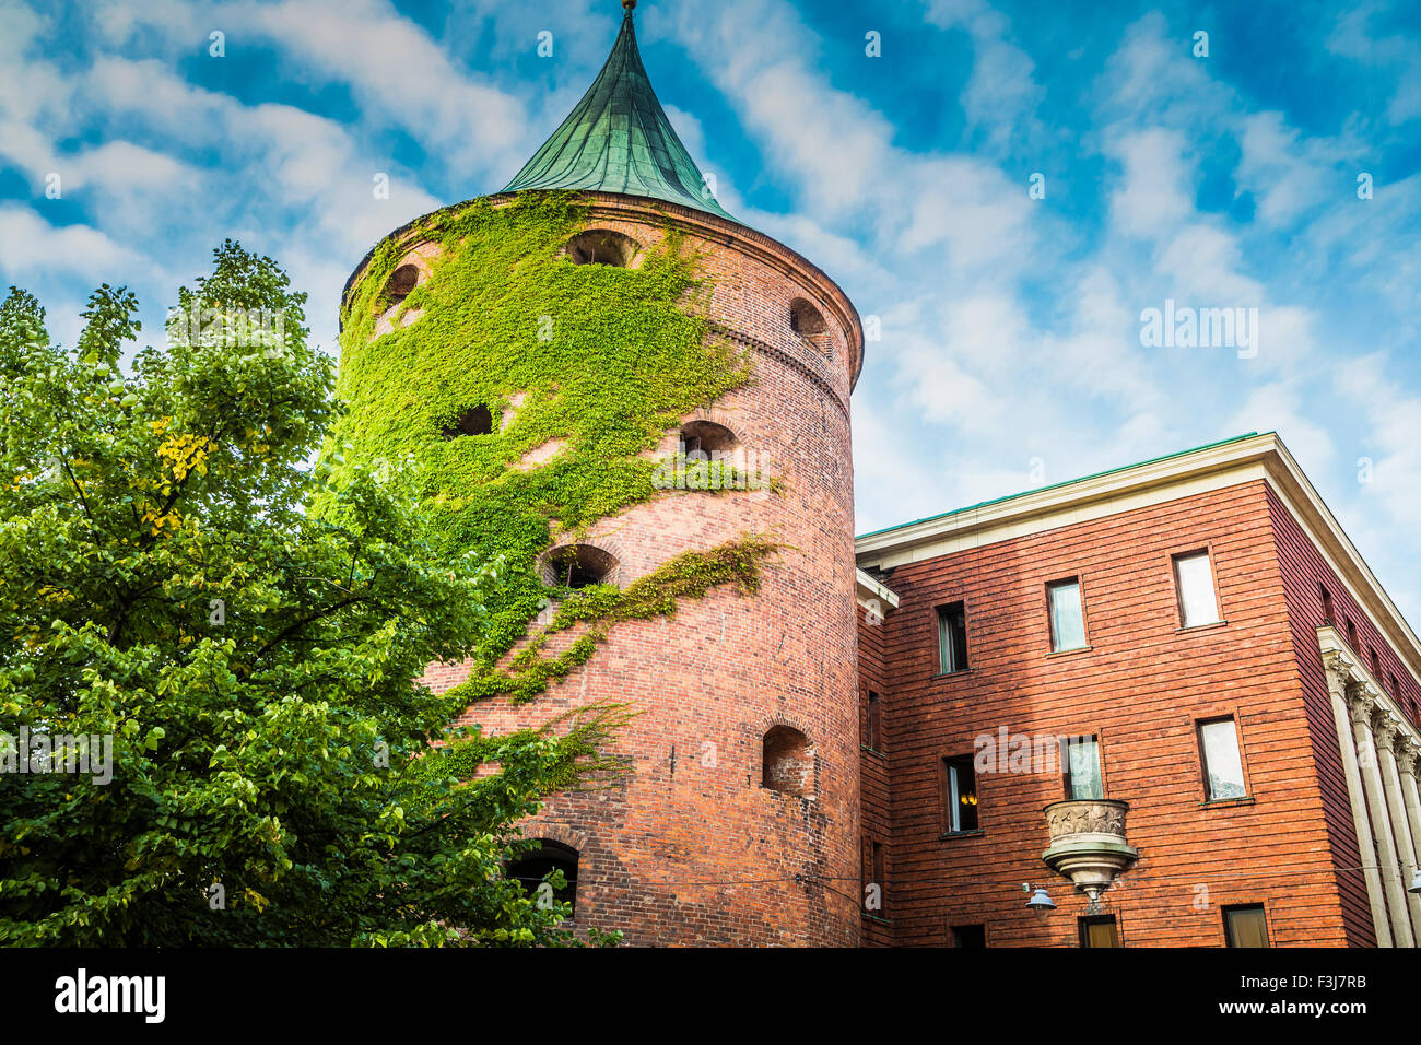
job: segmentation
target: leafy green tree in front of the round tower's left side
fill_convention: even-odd
[[[448,731],[416,680],[500,564],[433,552],[406,465],[308,466],[338,407],[306,296],[215,254],[126,373],[125,289],[72,351],[0,306],[0,943],[576,943],[503,867],[620,712]]]

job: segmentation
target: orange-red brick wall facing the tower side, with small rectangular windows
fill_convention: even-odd
[[[1347,941],[1273,537],[1252,482],[892,570],[901,604],[874,670],[888,680],[897,944],[946,944],[969,923],[986,923],[989,945],[1077,944],[1084,899],[1040,860],[1059,775],[982,775],[982,833],[942,837],[939,761],[999,727],[1100,736],[1107,798],[1130,803],[1141,853],[1106,894],[1125,945],[1223,945],[1221,907],[1235,903],[1263,903],[1277,945]],[[1226,623],[1181,631],[1171,554],[1204,546]],[[1044,586],[1069,576],[1091,648],[1050,655]],[[971,671],[935,677],[935,607],[956,600]],[[1206,808],[1195,719],[1225,714],[1252,800]],[[1025,910],[1027,880],[1059,910]]]

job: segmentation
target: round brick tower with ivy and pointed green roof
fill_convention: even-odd
[[[544,840],[547,862],[576,876],[577,927],[620,928],[630,944],[855,945],[848,400],[863,328],[823,272],[716,202],[651,90],[635,0],[622,6],[621,33],[595,82],[506,189],[398,229],[351,276],[341,358],[347,431],[357,454],[409,452],[435,475],[458,455],[479,462],[468,465],[468,482],[439,486],[432,498],[455,505],[450,533],[469,533],[473,546],[492,540],[490,529],[522,526],[500,513],[504,488],[527,505],[513,518],[533,519],[534,505],[541,513],[530,526],[536,557],[520,563],[513,554],[512,563],[522,570],[514,580],[527,574],[550,606],[499,651],[499,670],[529,653],[529,638],[581,587],[625,593],[688,553],[709,556],[746,535],[776,546],[757,586],[715,583],[701,597],[676,599],[672,613],[617,618],[585,661],[564,661],[568,670],[551,672],[546,688],[480,692],[462,721],[504,732],[587,704],[638,712],[617,738],[625,776],[605,789],[554,795],[524,823],[529,837]],[[577,225],[556,246],[534,225],[517,240],[526,249],[489,239],[500,216],[564,199]],[[483,250],[483,260],[456,286],[468,250]],[[549,476],[571,468],[597,438],[568,404],[584,395],[578,380],[587,373],[578,368],[624,367],[621,387],[652,392],[688,371],[655,371],[661,353],[628,328],[637,321],[618,321],[617,296],[631,294],[621,300],[641,307],[638,294],[652,291],[638,287],[662,279],[668,254],[695,266],[696,293],[675,307],[699,317],[696,345],[720,345],[746,380],[701,402],[662,404],[644,445],[617,461],[618,469],[657,465],[655,489],[571,526],[577,510],[560,505],[557,491],[576,486],[585,469]],[[507,287],[480,282],[495,279]],[[597,291],[578,299],[583,286]],[[578,347],[590,344],[588,324],[603,340]],[[436,331],[445,331],[438,343]],[[536,358],[563,370],[544,377]],[[593,398],[612,392],[608,385]],[[539,421],[558,409],[567,412],[556,424]],[[703,489],[696,465],[719,456],[735,462],[737,476],[760,472],[762,481]],[[536,483],[537,498],[524,493]],[[580,634],[551,634],[536,654],[570,657]],[[436,691],[468,685],[472,670],[432,665],[426,681]],[[529,877],[540,873],[534,866]]]

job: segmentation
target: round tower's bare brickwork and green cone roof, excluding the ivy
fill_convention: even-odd
[[[531,621],[529,634],[556,611],[557,582],[571,576],[558,577],[547,564],[561,562],[549,557],[561,546],[590,549],[597,580],[624,591],[676,556],[745,535],[763,537],[774,552],[757,589],[716,584],[703,597],[676,600],[671,614],[620,620],[585,663],[551,680],[546,691],[524,702],[510,694],[473,701],[460,722],[502,734],[587,705],[625,704],[635,712],[614,744],[627,759],[625,773],[607,788],[553,795],[523,825],[527,837],[576,852],[578,928],[621,930],[630,944],[857,945],[860,738],[848,407],[863,365],[863,330],[853,304],[823,272],[726,215],[693,175],[645,81],[628,10],[587,97],[512,191],[486,200],[497,210],[519,206],[527,193],[576,193],[580,235],[553,260],[514,259],[514,266],[560,264],[571,272],[577,269],[591,273],[604,262],[635,269],[666,250],[693,257],[705,294],[688,307],[708,321],[708,338],[743,354],[749,380],[669,418],[659,445],[642,456],[674,463],[678,455],[693,462],[702,452],[723,451],[752,476],[769,479],[708,492],[685,481],[685,468],[671,466],[671,482],[658,483],[654,496],[597,518],[576,535],[561,532],[554,518],[544,556],[533,567],[543,570],[553,606]],[[431,235],[422,222],[396,230],[352,274],[347,307],[361,299],[367,276],[384,282],[394,279],[394,269],[396,276],[412,273],[408,280],[418,286],[449,250],[450,239]],[[364,344],[345,344],[342,370],[347,353],[355,357],[351,367],[360,365],[361,353],[406,331],[418,354],[421,324],[439,307],[448,306],[421,299],[419,307],[389,307]],[[540,317],[530,313],[526,320],[531,327]],[[635,336],[607,348],[630,354],[632,380],[639,380]],[[477,365],[472,357],[470,365]],[[489,380],[496,382],[496,375]],[[374,392],[362,391],[369,387],[347,387],[357,419],[369,409]],[[522,392],[510,384],[496,394],[509,404],[502,411],[507,425]],[[496,409],[495,432],[499,425]],[[449,435],[445,429],[443,438]],[[441,434],[431,429],[428,438],[439,441]],[[561,441],[550,442],[509,468],[550,468],[561,448]],[[577,636],[554,634],[540,648],[556,655]],[[526,647],[527,638],[510,655]],[[469,664],[431,665],[425,681],[445,691],[469,674]]]

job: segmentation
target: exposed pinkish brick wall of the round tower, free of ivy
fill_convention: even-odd
[[[594,701],[630,701],[641,712],[618,744],[632,759],[627,782],[554,796],[526,825],[533,837],[580,850],[578,926],[620,928],[631,944],[855,945],[861,832],[848,394],[858,320],[823,273],[773,240],[691,212],[678,220],[713,283],[712,318],[750,348],[756,367],[750,387],[693,417],[729,427],[786,488],[669,492],[603,520],[585,540],[617,557],[620,584],[745,532],[766,533],[784,549],[755,597],[713,591],[682,603],[674,618],[621,624],[584,668],[541,698],[479,704],[462,721],[502,732]],[[666,222],[630,198],[598,193],[590,227],[654,247]],[[790,330],[796,297],[824,314],[828,351]],[[675,434],[662,446],[674,449]],[[566,641],[570,636],[560,636],[549,650]],[[435,665],[426,681],[443,690],[463,677],[460,665]],[[813,744],[813,798],[762,786],[762,738],[776,724]]]

